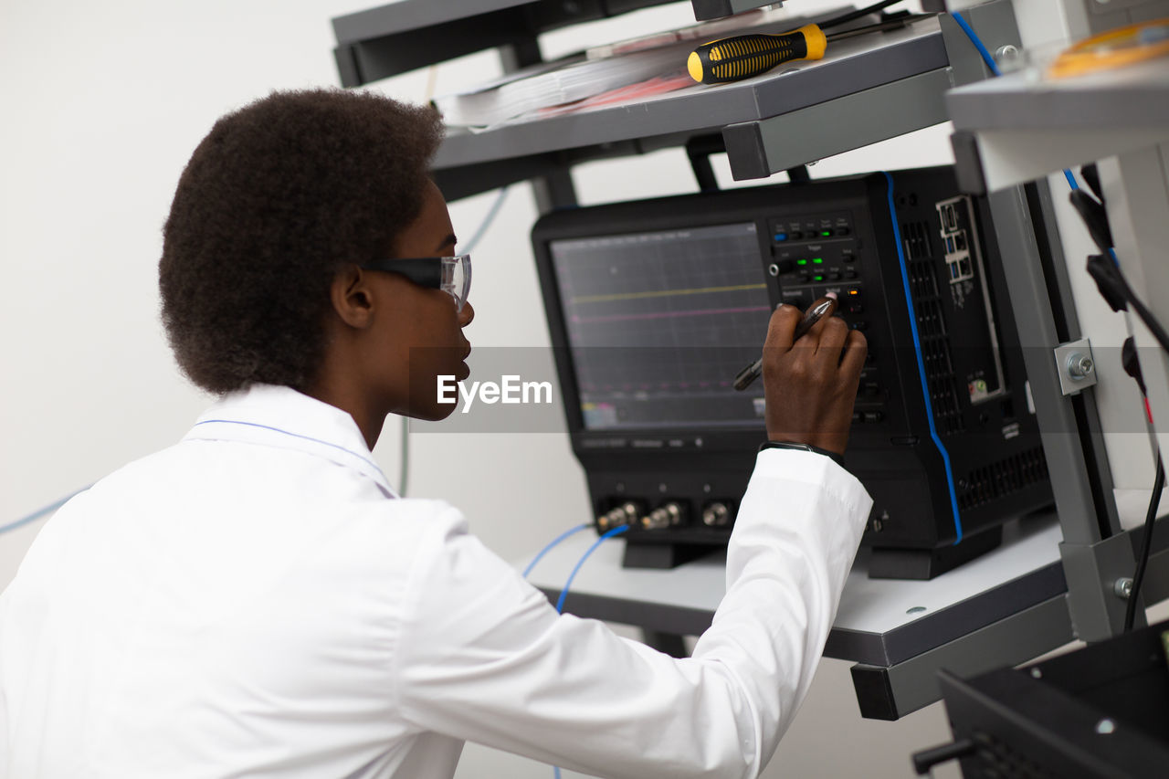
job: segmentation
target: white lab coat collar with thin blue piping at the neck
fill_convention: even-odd
[[[397,497],[348,413],[290,387],[256,384],[208,408],[184,440],[244,441],[306,451],[368,476]]]

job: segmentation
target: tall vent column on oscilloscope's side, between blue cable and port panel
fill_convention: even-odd
[[[918,340],[921,361],[929,388],[929,405],[934,409],[934,428],[939,435],[952,435],[966,429],[966,419],[959,404],[957,382],[954,379],[954,361],[950,359],[946,316],[942,312],[941,294],[938,291],[938,271],[929,256],[929,241],[925,222],[908,222],[901,226],[905,236],[906,263],[909,274],[909,295],[918,317]],[[911,250],[911,246],[916,249]],[[914,257],[913,251],[921,253]]]

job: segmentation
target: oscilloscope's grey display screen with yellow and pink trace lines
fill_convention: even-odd
[[[549,243],[584,429],[761,427],[770,302],[754,222]]]

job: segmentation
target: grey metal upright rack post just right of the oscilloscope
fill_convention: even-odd
[[[1008,0],[963,12],[990,50],[1021,46]],[[974,47],[946,18],[943,39],[955,69],[955,83],[987,77]],[[960,168],[962,147],[955,143]],[[969,167],[969,166],[968,166]],[[975,160],[973,167],[978,167]],[[981,170],[967,181],[981,180]],[[1061,256],[1051,194],[1045,181],[988,195],[1004,257],[1008,295],[1018,323],[1030,398],[1039,420],[1044,453],[1064,540],[1060,558],[1067,581],[1067,607],[1077,637],[1100,641],[1120,632],[1125,601],[1114,593],[1118,579],[1134,564],[1130,540],[1120,533],[1112,471],[1104,446],[1095,397],[1085,389],[1065,397],[1053,350],[1080,338],[1080,328]]]

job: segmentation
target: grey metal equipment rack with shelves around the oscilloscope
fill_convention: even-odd
[[[403,0],[333,20],[338,69],[343,84],[355,87],[471,51],[499,48],[505,69],[511,70],[540,60],[538,36],[544,32],[660,2]],[[767,4],[692,0],[692,5],[696,19],[704,20]],[[1021,46],[1009,0],[988,2],[963,14],[991,50]],[[996,90],[1010,95],[1009,82],[975,83],[989,71],[946,15],[907,29],[842,41],[822,61],[789,64],[713,89],[694,85],[636,104],[504,124],[483,132],[451,132],[436,157],[435,179],[451,200],[531,179],[538,206],[547,212],[575,204],[568,170],[586,160],[669,146],[714,147],[726,151],[735,179],[763,178],[939,124],[952,116],[962,122],[962,117],[970,117],[969,124],[962,126],[977,130],[982,127],[977,117],[1010,113],[988,111],[990,103],[977,103],[997,101]],[[952,91],[964,84],[969,85]],[[1163,87],[1156,89],[1161,90],[1158,95],[1164,94]],[[1161,101],[1147,108],[1161,136],[1164,104]],[[864,122],[853,120],[856,117],[864,117]],[[989,142],[980,138],[970,146],[984,143]],[[961,147],[959,161],[963,161]],[[863,713],[869,717],[895,719],[939,699],[938,668],[963,675],[1024,662],[1073,637],[1107,637],[1119,630],[1123,613],[1125,601],[1113,588],[1118,578],[1133,570],[1135,543],[1130,533],[1121,531],[1118,519],[1095,399],[1091,389],[1065,395],[1051,359],[1053,349],[1082,333],[1066,268],[1058,256],[1058,235],[1047,232],[1054,223],[1050,195],[1045,182],[1030,181],[1038,172],[1011,181],[1001,181],[996,175],[988,173],[990,204],[999,244],[1004,255],[1014,257],[1007,263],[1011,304],[1021,332],[1028,335],[1024,346],[1031,393],[1040,426],[1053,432],[1045,435],[1044,449],[1059,524],[1049,517],[1045,528],[1037,530],[1026,524],[1029,530],[1019,531],[1017,540],[1028,544],[1026,549],[1045,550],[1038,558],[1023,560],[1017,550],[1004,549],[988,556],[985,563],[969,564],[980,566],[971,568],[983,577],[977,586],[968,578],[970,573],[962,571],[933,582],[913,582],[925,590],[914,591],[911,599],[924,595],[928,587],[941,587],[948,600],[921,614],[891,616],[879,625],[865,622],[864,612],[876,600],[892,594],[887,587],[881,588],[884,585],[872,590],[862,581],[862,573],[853,573],[856,580],[850,579],[825,654],[858,663],[853,669],[855,687]],[[1032,214],[1043,214],[1046,227],[1036,229]],[[1169,220],[1162,221],[1162,232],[1165,225]],[[1050,251],[1040,251],[1040,247]],[[1052,255],[1056,261],[1045,266],[1042,257]],[[1169,310],[1161,315],[1169,320]],[[1169,423],[1169,394],[1165,398],[1163,419]],[[541,564],[547,566],[546,573],[537,573],[535,582],[549,594],[559,592],[548,573],[559,575],[556,554],[570,554],[574,549],[565,545]],[[1146,582],[1146,602],[1169,594],[1169,575],[1160,573],[1169,570],[1169,551],[1163,545],[1154,551],[1157,554]],[[603,568],[611,575],[620,563],[603,552],[603,547],[599,550],[589,567]],[[1005,559],[1014,563],[1007,565]],[[706,593],[696,594],[690,602],[631,600],[628,590],[618,593],[592,587],[582,575],[567,608],[583,616],[641,626],[658,639],[658,646],[677,652],[682,634],[698,633],[710,623],[722,593],[721,575],[711,572],[715,568],[721,573],[719,566],[701,564],[671,572],[628,572],[659,577],[659,582],[663,577],[717,580],[700,588],[683,587],[685,592]],[[858,571],[863,571],[863,564]],[[950,587],[953,580],[941,584],[946,577],[967,584]],[[860,623],[866,627],[857,627]]]

